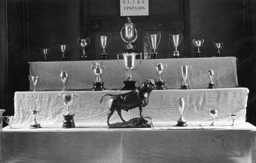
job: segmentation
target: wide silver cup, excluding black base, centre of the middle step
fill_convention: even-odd
[[[123,55],[124,57],[124,66],[125,69],[123,68],[123,66],[120,64],[119,62],[119,55]],[[123,54],[117,54],[117,60],[119,65],[125,70],[129,72],[129,76],[127,78],[127,81],[132,81],[132,76],[131,76],[131,71],[136,70],[139,66],[140,63],[138,65],[137,68],[134,69],[134,65],[135,65],[135,57],[136,55],[140,55],[140,63],[141,63],[141,59],[142,59],[142,54],[141,53],[123,53]]]

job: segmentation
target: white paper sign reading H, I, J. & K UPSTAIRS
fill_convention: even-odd
[[[148,0],[120,0],[120,15],[148,15]]]

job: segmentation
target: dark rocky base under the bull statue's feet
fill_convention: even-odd
[[[150,117],[133,118],[126,122],[117,122],[110,124],[108,128],[153,128],[152,119]]]

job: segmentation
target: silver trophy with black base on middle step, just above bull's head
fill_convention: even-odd
[[[167,89],[167,87],[164,86],[165,82],[161,79],[161,75],[163,74],[163,71],[164,71],[164,65],[166,65],[165,71],[164,71],[164,73],[165,73],[167,70],[167,64],[166,63],[153,63],[153,65],[155,65],[156,73],[158,74],[158,77],[159,77],[158,80],[155,81],[155,84],[156,84],[155,89],[157,89],[157,90]],[[153,65],[152,65],[152,67],[153,67]]]

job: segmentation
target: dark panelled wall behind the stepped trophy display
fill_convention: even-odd
[[[68,61],[80,60],[77,39],[89,37],[89,60],[100,59],[96,35],[112,35],[109,59],[122,53],[125,43],[120,30],[127,18],[120,16],[119,0],[2,0],[1,2],[1,109],[14,115],[14,93],[29,90],[27,62],[43,61],[40,48],[50,48],[49,61],[60,61],[57,44],[69,44]],[[178,50],[182,58],[196,56],[192,40],[204,39],[203,57],[215,56],[214,42],[223,42],[223,57],[238,58],[238,85],[250,90],[246,121],[256,126],[255,46],[256,1],[254,0],[149,0],[149,16],[133,16],[137,52],[148,58],[147,33],[161,32],[157,51],[172,58],[169,34],[183,34]],[[6,24],[7,22],[7,24]],[[99,24],[99,28],[95,27]],[[4,124],[5,126],[6,124]]]

